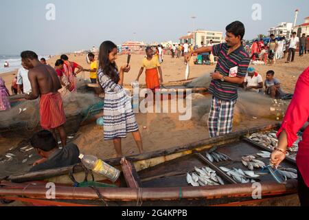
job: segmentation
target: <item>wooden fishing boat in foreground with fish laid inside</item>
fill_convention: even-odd
[[[270,174],[262,175],[259,185],[261,197],[253,199],[252,184],[237,184],[218,168],[244,168],[240,162],[243,155],[269,151],[246,137],[255,132],[277,129],[278,126],[260,126],[185,146],[127,157],[122,161],[120,158],[108,159],[108,164],[122,170],[122,177],[113,188],[73,187],[71,179],[78,182],[87,179],[85,177],[89,173],[84,172],[82,166],[2,177],[0,199],[50,206],[297,206],[296,179],[278,184]],[[210,162],[205,152],[214,149],[229,155],[232,160]],[[263,161],[268,163],[269,159]],[[209,166],[216,170],[225,185],[190,186],[185,177],[195,166]],[[295,162],[290,160],[284,161],[282,166],[296,168]],[[111,184],[97,175],[93,179]],[[55,199],[46,199],[47,182],[56,184]]]

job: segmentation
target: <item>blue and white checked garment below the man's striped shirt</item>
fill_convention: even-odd
[[[208,119],[210,137],[231,133],[236,100],[222,101],[213,97]]]

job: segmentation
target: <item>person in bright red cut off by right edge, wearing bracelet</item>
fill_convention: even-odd
[[[297,140],[297,132],[309,121],[309,67],[297,81],[293,100],[277,133],[279,143],[271,155],[271,164],[279,166],[286,158],[286,149]],[[301,206],[309,206],[309,126],[299,142],[297,153],[298,194]]]

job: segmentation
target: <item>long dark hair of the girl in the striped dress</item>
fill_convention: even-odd
[[[100,45],[100,53],[99,53],[99,68],[102,69],[104,74],[109,76],[111,80],[115,83],[119,83],[119,76],[117,74],[118,69],[115,63],[111,63],[109,61],[109,54],[117,48],[117,45],[111,41],[104,41]],[[117,72],[116,72],[117,71]]]

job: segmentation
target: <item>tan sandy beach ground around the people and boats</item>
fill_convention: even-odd
[[[54,66],[56,59],[60,56],[47,61],[49,65]],[[131,83],[137,78],[137,74],[141,67],[141,60],[144,55],[133,55],[131,58],[131,71],[125,75],[124,82]],[[74,61],[84,68],[89,68],[89,65],[85,61],[85,57],[69,54],[69,60]],[[282,83],[282,89],[286,92],[293,93],[295,83],[299,74],[301,74],[309,63],[309,54],[299,58],[297,56],[295,63],[285,64],[285,60],[279,60],[272,66],[254,66],[258,73],[262,74],[263,78],[266,78],[266,72],[270,69],[275,71],[275,77]],[[118,56],[117,64],[123,65],[126,63],[126,56]],[[185,65],[183,59],[172,59],[171,56],[165,56],[163,69],[163,80],[165,83],[174,80],[183,80],[185,77]],[[191,67],[190,78],[200,77],[204,74],[213,72],[215,66],[206,65],[193,65]],[[16,72],[10,72],[7,74],[1,74],[1,77],[5,80],[7,87],[10,89],[10,83],[14,78]],[[78,77],[89,78],[89,74],[83,76],[80,73]],[[141,82],[144,83],[144,75],[141,77]],[[206,122],[196,122],[194,120],[179,121],[178,113],[137,113],[137,123],[144,141],[145,151],[157,151],[163,148],[172,148],[175,146],[181,146],[183,144],[190,144],[198,140],[203,140],[209,137]],[[244,115],[241,123],[236,123],[234,131],[240,129],[246,129],[250,126],[258,126],[262,124],[271,124],[276,122],[275,120],[269,120],[266,118],[258,118],[252,120],[252,115]],[[237,119],[236,119],[237,120]],[[144,127],[146,126],[146,129]],[[80,150],[83,153],[89,153],[97,155],[102,159],[115,157],[115,150],[112,142],[105,142],[103,138],[103,129],[93,122],[86,126],[81,126],[78,131],[78,139],[75,141],[78,144]],[[11,138],[0,138],[0,154],[8,151],[12,146],[16,146],[25,137],[20,137],[18,134],[12,133]],[[138,153],[137,147],[133,140],[132,135],[128,135],[122,144],[124,155],[135,155]]]

